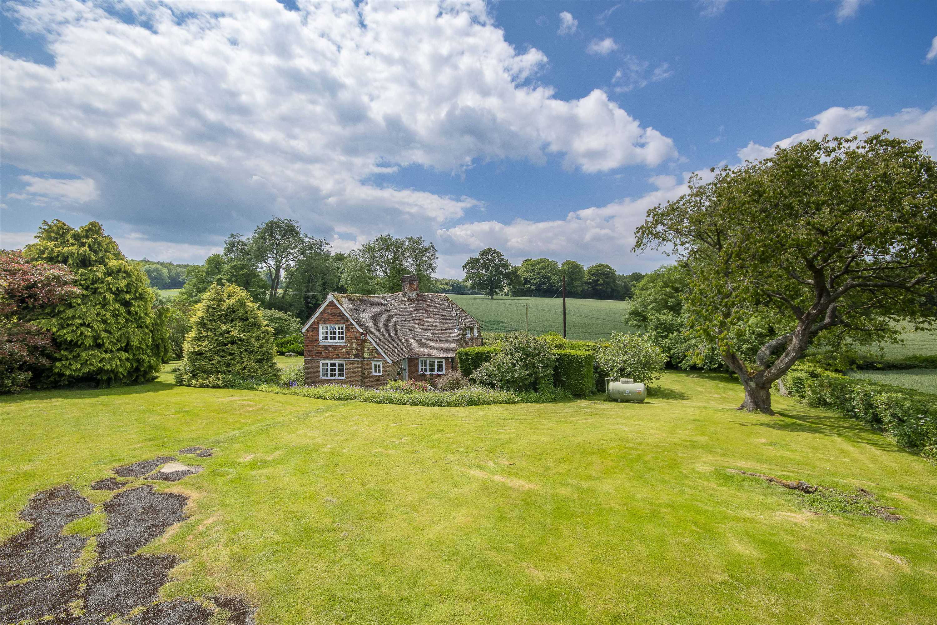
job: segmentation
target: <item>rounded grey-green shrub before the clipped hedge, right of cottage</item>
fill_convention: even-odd
[[[536,391],[553,386],[557,357],[546,341],[523,332],[506,335],[501,350],[470,376],[471,379],[506,391]]]

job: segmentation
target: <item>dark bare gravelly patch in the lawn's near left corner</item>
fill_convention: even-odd
[[[160,456],[119,467],[114,473],[141,477],[171,460]],[[157,474],[185,477],[195,469],[201,467],[172,463]],[[93,488],[115,490],[126,484],[132,482],[108,478]],[[94,513],[88,499],[67,485],[38,493],[20,513],[33,527],[0,544],[0,573],[7,582],[0,586],[0,622],[54,619],[91,625],[129,619],[149,625],[253,625],[254,609],[241,597],[158,602],[159,588],[180,560],[171,555],[131,555],[186,520],[187,502],[185,495],[157,493],[150,485],[121,491],[103,503],[108,528],[89,541],[81,534],[62,534],[67,524]],[[217,513],[199,529],[216,518]],[[117,620],[112,620],[114,615]]]

